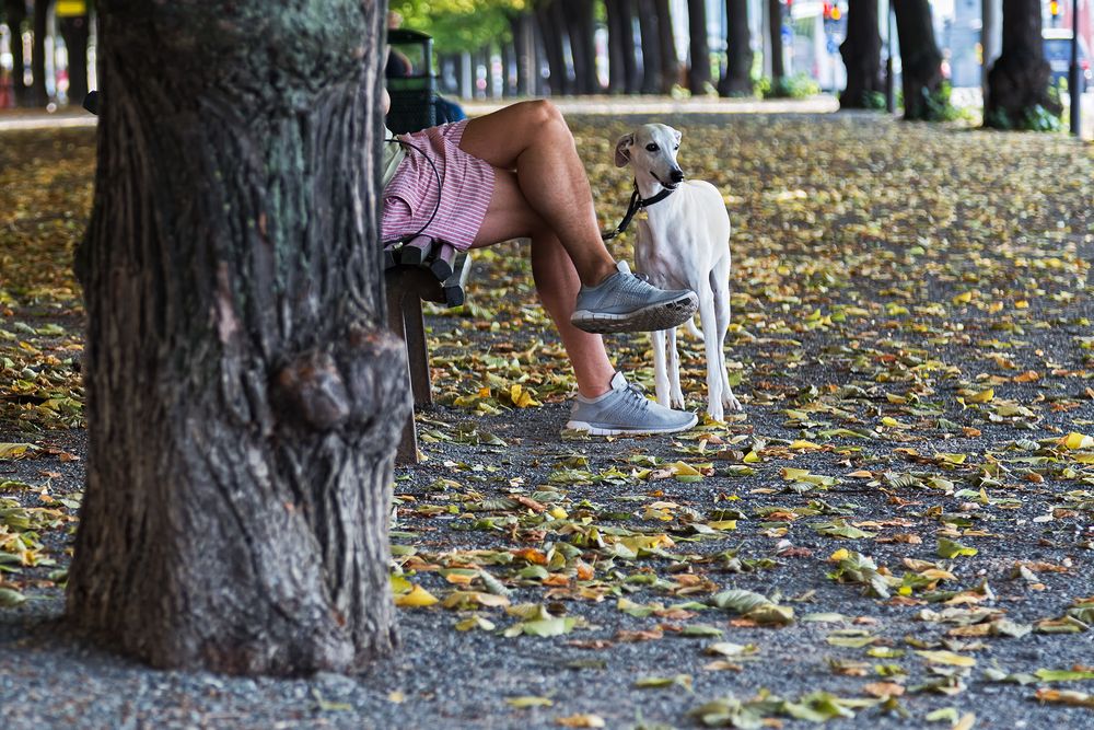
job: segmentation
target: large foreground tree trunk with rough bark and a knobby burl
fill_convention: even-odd
[[[376,219],[382,3],[101,0],[68,621],[156,667],[392,651],[409,399]]]

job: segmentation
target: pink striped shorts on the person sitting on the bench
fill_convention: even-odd
[[[406,157],[384,188],[384,209],[380,219],[384,241],[417,233],[429,221],[423,235],[451,243],[461,251],[475,242],[493,193],[493,167],[459,149],[466,126],[464,119],[399,135],[400,140],[418,149],[406,148]],[[423,152],[437,165],[441,177],[440,204],[438,174],[433,173]]]

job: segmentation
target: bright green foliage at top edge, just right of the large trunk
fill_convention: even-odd
[[[527,10],[524,0],[395,0],[403,27],[433,36],[438,53],[478,50],[510,36],[509,16]]]

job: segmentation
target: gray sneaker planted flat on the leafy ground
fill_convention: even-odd
[[[639,436],[684,431],[698,420],[693,413],[650,401],[621,372],[612,378],[610,385],[610,391],[595,398],[578,395],[566,427],[593,436]]]

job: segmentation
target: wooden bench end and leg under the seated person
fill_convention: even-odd
[[[470,262],[470,255],[426,235],[384,250],[387,326],[406,343],[407,378],[416,410],[433,403],[421,303],[437,302],[445,306],[463,304]],[[414,413],[407,417],[403,427],[395,463],[418,463],[418,431],[415,428]]]

